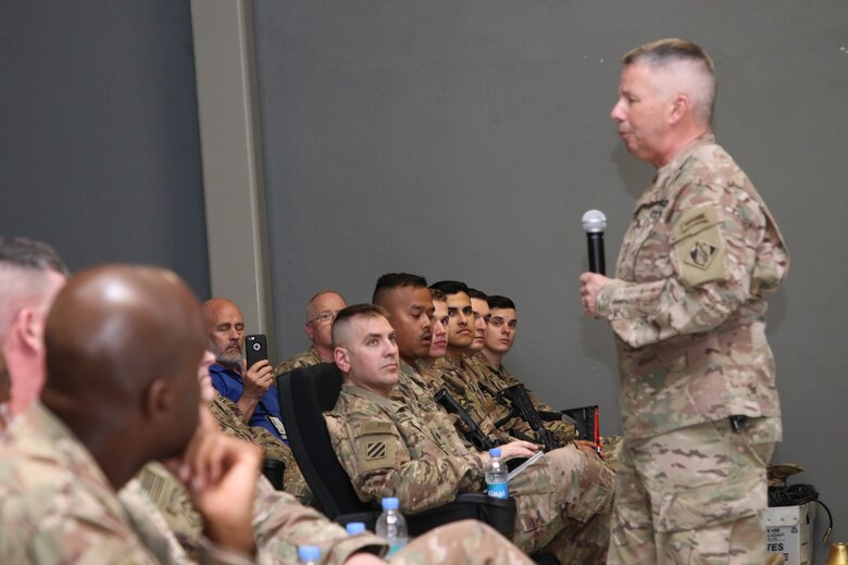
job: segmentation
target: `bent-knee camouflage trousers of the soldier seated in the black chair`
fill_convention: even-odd
[[[515,498],[512,541],[527,554],[560,563],[604,563],[614,473],[573,444],[546,453],[510,481]]]

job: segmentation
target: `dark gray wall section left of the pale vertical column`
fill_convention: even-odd
[[[209,296],[188,2],[0,2],[0,233]]]

